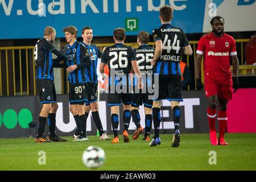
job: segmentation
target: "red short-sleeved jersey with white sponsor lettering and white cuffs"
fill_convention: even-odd
[[[232,81],[230,56],[237,55],[236,42],[228,34],[217,38],[213,33],[203,36],[198,43],[197,51],[204,55],[205,80],[214,80],[223,84]]]

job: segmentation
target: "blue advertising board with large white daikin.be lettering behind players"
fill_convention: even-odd
[[[151,32],[160,26],[159,7],[174,8],[172,24],[185,33],[203,32],[205,0],[0,0],[0,39],[30,39],[43,36],[46,26],[94,29],[94,36],[112,36],[114,28],[127,35]]]

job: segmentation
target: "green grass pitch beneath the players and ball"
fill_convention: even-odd
[[[111,136],[113,138],[113,136]],[[228,146],[211,146],[209,134],[183,134],[179,148],[171,147],[172,135],[161,134],[162,144],[148,146],[142,135],[130,143],[100,141],[35,143],[29,139],[0,139],[0,170],[91,170],[82,164],[88,146],[100,146],[106,153],[105,164],[94,170],[255,170],[256,134],[226,134]],[[130,136],[131,139],[131,136]],[[46,164],[39,165],[39,151],[46,152]],[[215,151],[217,164],[209,164]]]

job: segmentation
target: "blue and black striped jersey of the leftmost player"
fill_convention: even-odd
[[[48,39],[39,39],[34,48],[36,79],[54,80],[52,53],[58,58],[63,57],[61,51],[57,50]]]

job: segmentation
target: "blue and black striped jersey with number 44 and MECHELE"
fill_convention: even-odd
[[[154,66],[154,73],[160,75],[181,75],[180,64],[183,48],[188,46],[188,39],[183,30],[173,27],[170,23],[164,23],[158,29],[154,29],[152,36],[156,41],[162,40],[163,51]]]

